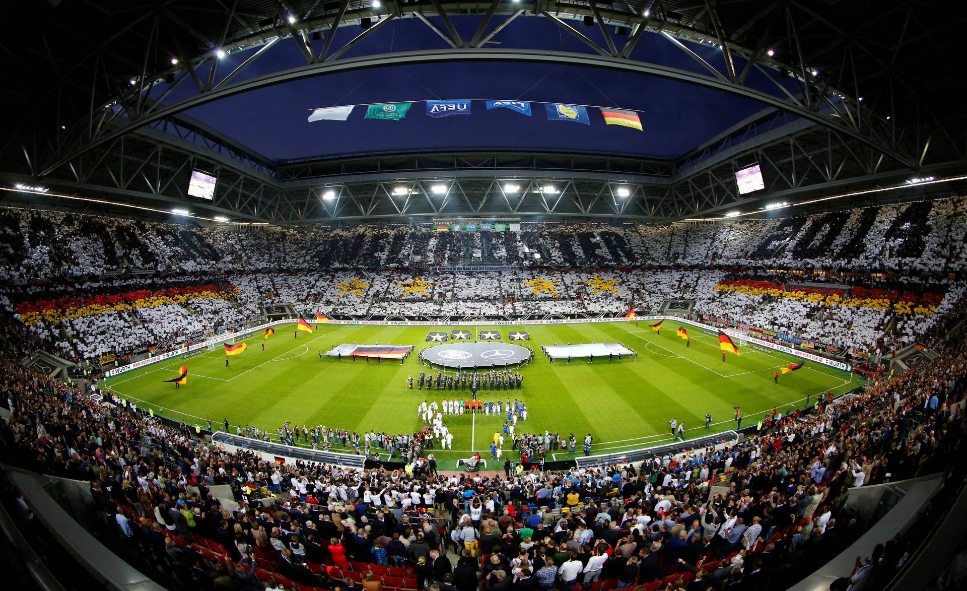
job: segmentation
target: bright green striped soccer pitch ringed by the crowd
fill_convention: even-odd
[[[468,399],[467,391],[420,391],[406,387],[410,375],[416,380],[424,368],[417,355],[404,364],[375,360],[366,363],[343,358],[323,357],[333,343],[368,342],[413,344],[416,350],[431,346],[430,331],[450,331],[455,327],[398,327],[319,324],[311,334],[299,332],[295,325],[280,325],[267,340],[252,335],[245,340],[249,348],[230,358],[225,368],[221,345],[189,359],[171,358],[108,378],[106,385],[118,396],[133,399],[139,407],[190,425],[212,421],[213,427],[228,419],[232,432],[236,425],[257,426],[275,436],[276,429],[289,421],[293,426],[324,425],[349,431],[413,432],[421,428],[417,405],[423,400]],[[633,321],[480,327],[501,332],[508,340],[509,330],[530,334],[528,344],[537,351],[534,361],[523,369],[521,390],[481,391],[477,399],[522,399],[527,403],[528,420],[517,424],[517,432],[561,433],[565,439],[574,433],[577,453],[587,433],[594,436],[592,454],[612,454],[657,445],[671,440],[668,421],[685,422],[687,435],[696,437],[705,429],[705,413],[712,413],[712,432],[735,427],[734,406],[741,406],[743,425],[757,423],[774,407],[785,413],[802,407],[816,395],[833,392],[835,396],[860,385],[846,371],[806,361],[798,371],[779,375],[778,368],[798,361],[779,352],[772,354],[740,346],[741,356],[727,353],[721,359],[718,339],[688,326],[691,346],[676,335],[677,324],[666,321],[660,334],[648,323]],[[638,359],[624,357],[619,363],[607,359],[574,360],[570,365],[558,361],[551,365],[541,353],[542,344],[591,341],[624,342],[638,351]],[[265,350],[262,350],[262,343]],[[241,341],[240,341],[241,342]],[[162,380],[177,375],[188,366],[186,385],[175,389]],[[435,369],[432,370],[435,373]],[[103,382],[102,382],[103,384]],[[505,417],[506,418],[506,417]],[[471,451],[489,458],[493,433],[503,425],[499,417],[483,413],[444,416],[444,424],[454,433],[454,450],[434,454],[441,465],[449,467],[456,458],[467,458]],[[336,448],[337,451],[338,448]],[[505,457],[516,459],[510,441],[504,445]],[[386,458],[384,454],[382,456]],[[567,450],[554,459],[570,458]],[[550,459],[550,458],[549,458]]]

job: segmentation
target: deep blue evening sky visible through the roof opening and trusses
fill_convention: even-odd
[[[497,18],[491,21],[490,27]],[[597,27],[575,28],[601,41]],[[464,40],[473,37],[478,17],[454,18]],[[334,46],[359,34],[360,28],[339,29]],[[518,17],[498,36],[502,48],[554,48],[588,53],[590,49],[547,18]],[[616,44],[625,37],[614,36]],[[601,42],[603,43],[603,42]],[[688,42],[686,42],[688,43]],[[316,52],[321,43],[316,42]],[[487,45],[495,47],[498,45]],[[721,52],[709,45],[689,45],[717,68],[724,68]],[[401,19],[371,35],[347,56],[387,50],[420,50],[445,45],[419,20]],[[220,73],[246,59],[249,52],[228,55]],[[662,65],[705,72],[683,51],[654,34],[645,34],[632,57]],[[298,47],[284,41],[269,49],[235,80],[305,65]],[[737,68],[745,63],[740,60]],[[206,73],[199,72],[205,79]],[[753,71],[747,81],[759,90],[777,93],[763,74]],[[791,80],[786,80],[790,84]],[[792,88],[790,86],[790,88]],[[158,96],[163,86],[152,94]],[[190,96],[190,81],[169,95],[166,103]],[[795,90],[793,90],[795,92]],[[364,120],[365,103],[438,99],[502,99],[581,103],[641,109],[644,132],[605,126],[601,112],[589,108],[591,125],[547,121],[541,104],[533,104],[531,117],[510,109],[487,111],[473,103],[473,113],[431,119],[423,103],[414,104],[402,121]],[[308,123],[311,108],[339,104],[357,106],[345,122]],[[204,104],[187,112],[217,130],[272,159],[337,156],[414,150],[553,150],[675,158],[721,133],[749,115],[760,103],[684,82],[657,77],[617,74],[601,69],[542,64],[433,64],[400,66],[333,74],[288,82]]]

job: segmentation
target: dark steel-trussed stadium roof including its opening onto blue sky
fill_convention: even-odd
[[[48,195],[286,224],[667,222],[964,165],[967,15],[948,3],[25,4],[3,9],[22,26],[2,43],[0,105],[17,115],[0,170]],[[644,130],[594,108],[581,126],[483,103],[307,121],[314,107],[458,98],[636,109]],[[742,195],[734,173],[751,163],[766,189]],[[194,168],[218,177],[211,202],[186,195]]]

